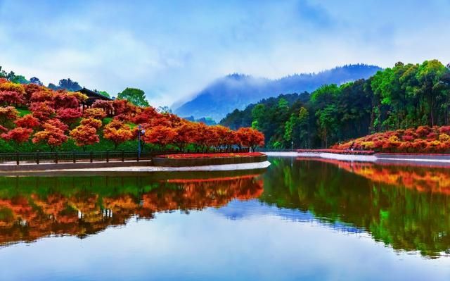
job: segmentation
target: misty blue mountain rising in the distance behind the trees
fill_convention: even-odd
[[[324,84],[342,84],[361,78],[371,77],[378,70],[376,65],[344,65],[321,73],[295,74],[278,80],[232,74],[219,78],[208,85],[191,101],[175,108],[181,116],[194,118],[209,117],[216,121],[226,113],[242,110],[248,104],[278,94],[312,92]]]

